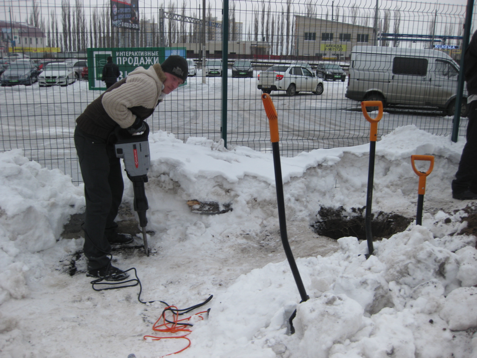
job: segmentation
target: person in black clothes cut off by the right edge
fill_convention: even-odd
[[[467,82],[467,143],[462,150],[456,179],[452,180],[452,197],[477,200],[477,31],[464,55]]]

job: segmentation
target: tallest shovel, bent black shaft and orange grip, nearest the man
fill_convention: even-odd
[[[285,201],[283,199],[283,182],[281,180],[281,163],[280,163],[280,148],[278,145],[279,142],[279,133],[278,133],[278,114],[275,110],[275,106],[271,100],[270,95],[264,93],[262,94],[262,102],[265,107],[265,113],[269,119],[270,123],[270,139],[271,139],[271,148],[273,153],[273,165],[275,167],[275,184],[277,188],[277,203],[278,203],[278,220],[280,223],[280,236],[281,243],[283,244],[283,249],[287,255],[288,263],[290,264],[291,273],[295,278],[295,282],[298,287],[298,292],[300,292],[301,302],[304,302],[310,298],[305,291],[305,286],[301,281],[300,272],[298,271],[297,264],[295,263],[295,258],[293,253],[291,253],[290,243],[288,242],[287,235],[287,221],[285,218]],[[292,325],[292,320],[296,315],[296,310],[290,317],[290,330],[291,333],[294,332]]]

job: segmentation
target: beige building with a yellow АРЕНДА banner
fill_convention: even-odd
[[[374,29],[351,23],[295,16],[293,55],[344,59],[355,45],[374,45]]]

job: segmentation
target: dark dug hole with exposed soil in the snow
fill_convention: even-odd
[[[314,222],[311,227],[322,236],[339,239],[346,236],[354,236],[359,240],[366,240],[363,208],[352,208],[351,213],[340,208],[321,208],[318,211],[321,220]],[[393,212],[374,212],[371,220],[371,232],[373,240],[390,238],[397,232],[403,232],[413,221]]]

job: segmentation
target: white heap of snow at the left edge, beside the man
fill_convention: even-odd
[[[28,294],[24,273],[38,264],[31,253],[56,243],[69,216],[84,210],[84,197],[71,178],[41,168],[20,149],[0,153],[0,168],[1,304]]]

